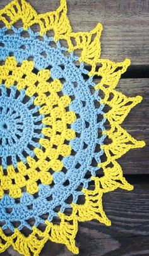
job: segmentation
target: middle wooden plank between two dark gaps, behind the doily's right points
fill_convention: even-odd
[[[97,84],[100,80],[95,79]],[[117,91],[126,96],[134,97],[141,95],[143,100],[136,105],[128,114],[122,127],[126,129],[131,136],[138,140],[144,140],[146,146],[128,151],[118,162],[121,164],[124,174],[148,174],[149,159],[149,79],[121,79],[116,88]],[[100,172],[99,172],[100,173]]]

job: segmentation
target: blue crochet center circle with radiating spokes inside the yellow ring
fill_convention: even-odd
[[[42,133],[36,134],[35,122],[43,117],[33,116],[40,107],[33,106],[34,97],[25,102],[25,90],[18,91],[16,86],[11,86],[8,92],[4,85],[0,86],[0,90],[0,158],[3,169],[6,169],[8,157],[11,157],[13,166],[17,167],[19,159],[27,162],[25,155],[35,156],[33,148],[39,148],[40,144],[32,139],[43,137]]]

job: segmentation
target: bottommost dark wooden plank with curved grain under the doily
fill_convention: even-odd
[[[76,245],[81,256],[149,255],[149,185],[136,185],[133,191],[104,195],[104,209],[112,226],[98,221],[80,222]],[[2,256],[20,255],[12,247]],[[73,256],[64,245],[48,241],[40,256]]]

